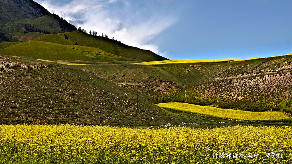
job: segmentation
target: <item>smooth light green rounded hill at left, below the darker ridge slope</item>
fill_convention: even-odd
[[[58,34],[51,34],[45,39],[58,38],[58,42],[68,43],[66,39],[60,38]],[[45,40],[40,36],[39,40]],[[36,48],[37,47],[37,48]],[[0,54],[7,54],[10,56],[24,56],[33,57],[45,60],[85,60],[92,62],[111,62],[111,63],[127,63],[127,62],[141,62],[134,59],[127,59],[124,57],[106,53],[98,48],[90,48],[76,45],[62,45],[57,43],[49,43],[44,41],[28,41],[25,43],[16,44],[0,50]]]

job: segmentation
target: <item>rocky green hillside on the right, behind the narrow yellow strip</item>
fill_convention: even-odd
[[[245,111],[291,113],[291,55],[232,62],[224,59],[219,62],[162,62],[166,64],[146,65],[144,62],[124,67],[106,64],[82,67],[125,88],[138,90],[154,103],[174,101]]]

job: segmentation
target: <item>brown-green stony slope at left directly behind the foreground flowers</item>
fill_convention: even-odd
[[[171,119],[163,109],[140,96],[136,109],[135,92],[80,69],[55,63],[8,59],[5,56],[1,58],[0,68],[4,69],[1,69],[4,75],[0,94],[1,124],[147,126]]]

